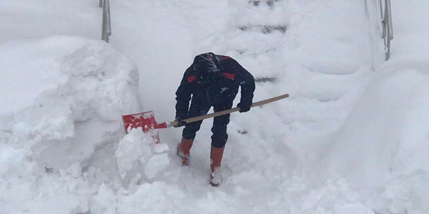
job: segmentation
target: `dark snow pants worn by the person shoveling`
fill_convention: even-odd
[[[190,118],[206,115],[212,106],[215,112],[231,109],[233,107],[233,101],[234,100],[223,101],[219,104],[212,105],[207,101],[201,101],[193,98],[191,102],[191,107],[189,109],[188,117]],[[226,133],[226,130],[227,125],[229,123],[230,114],[225,114],[214,118],[212,127],[212,145],[214,147],[222,148],[223,146],[225,146],[228,140],[228,134]],[[184,139],[195,139],[196,132],[201,127],[201,124],[202,121],[186,124],[185,128],[183,129],[182,137]]]

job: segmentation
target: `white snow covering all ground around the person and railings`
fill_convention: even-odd
[[[392,0],[387,62],[376,0],[111,1],[110,44],[98,0],[0,3],[0,214],[429,212],[425,0]],[[232,114],[218,188],[213,120],[186,167],[181,129],[154,144],[121,126],[173,120],[208,51],[274,79],[255,101],[290,94]]]

